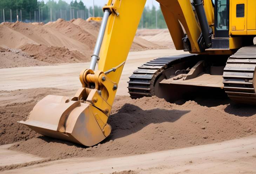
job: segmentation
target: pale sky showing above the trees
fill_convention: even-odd
[[[48,0],[43,0],[44,2],[47,2]],[[55,0],[58,1],[58,0]],[[70,1],[72,0],[63,0],[66,1],[67,3],[70,3]],[[80,0],[77,0],[78,2]],[[97,6],[103,6],[105,3],[107,3],[108,0],[94,0],[94,4]],[[86,6],[93,6],[93,0],[82,0],[82,2],[86,5]],[[155,0],[147,0],[146,2],[146,6],[152,7],[152,5],[154,5],[155,7],[159,7],[159,3]]]

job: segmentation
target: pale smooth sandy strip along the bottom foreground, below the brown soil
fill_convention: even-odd
[[[2,173],[255,173],[256,137],[118,158],[75,158],[56,160]],[[2,146],[0,156],[13,155],[5,164],[38,160],[25,153],[8,151]],[[11,161],[13,160],[13,161]],[[242,165],[241,165],[242,164]],[[83,167],[81,167],[83,166]]]

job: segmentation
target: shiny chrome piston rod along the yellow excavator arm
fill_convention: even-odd
[[[105,9],[104,11],[104,15],[102,18],[102,22],[101,22],[101,26],[100,26],[100,31],[99,31],[99,35],[95,44],[95,48],[93,51],[93,55],[92,55],[92,59],[90,62],[90,69],[95,70],[96,67],[96,63],[99,60],[99,53],[100,53],[100,48],[101,48],[101,44],[102,44],[102,40],[104,37],[104,33],[107,27],[107,22],[108,22],[108,17],[109,17],[109,10]]]

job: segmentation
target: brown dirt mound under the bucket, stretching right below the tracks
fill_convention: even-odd
[[[19,104],[15,107],[20,108]],[[134,100],[119,96],[108,123],[112,126],[112,133],[93,147],[40,136],[18,142],[11,149],[54,160],[125,156],[222,142],[255,134],[256,110],[253,106],[244,109],[233,104],[207,107],[195,101],[176,105],[157,97]]]

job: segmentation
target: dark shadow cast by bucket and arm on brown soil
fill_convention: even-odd
[[[162,122],[175,122],[181,118],[184,114],[190,111],[181,111],[176,109],[150,109],[143,110],[138,106],[132,104],[125,104],[115,114],[109,116],[108,124],[112,127],[112,132],[102,143],[121,138],[130,134],[134,134],[137,131],[143,129],[151,123]],[[40,136],[38,137],[48,143],[63,143],[69,146],[76,146],[85,148],[85,146],[74,144],[72,142],[63,141],[60,139],[54,139],[51,137]]]

